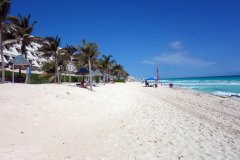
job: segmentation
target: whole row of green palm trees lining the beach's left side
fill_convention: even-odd
[[[27,49],[26,47],[32,43],[40,44],[41,47],[38,48],[36,52],[41,53],[40,55],[49,60],[50,57],[53,61],[45,62],[42,66],[42,70],[46,74],[52,74],[51,77],[58,83],[61,82],[61,75],[66,74],[68,71],[68,66],[71,63],[76,69],[80,69],[85,66],[91,70],[99,69],[103,74],[111,74],[114,76],[128,77],[129,74],[124,70],[124,67],[116,63],[116,60],[111,59],[112,55],[101,55],[99,50],[99,45],[94,42],[86,43],[82,40],[82,45],[73,44],[66,47],[60,48],[61,38],[55,37],[37,37],[33,36],[33,30],[37,21],[30,23],[31,15],[27,17],[18,14],[18,16],[10,15],[11,0],[1,0],[0,1],[0,49],[1,49],[1,59],[2,59],[2,83],[5,80],[4,72],[4,58],[3,58],[3,46],[9,47],[14,44],[21,45],[21,54],[27,59]],[[21,68],[19,69],[21,72]],[[91,73],[90,73],[91,75]],[[28,69],[26,69],[26,80],[28,83]],[[90,88],[92,88],[92,77],[90,76]]]

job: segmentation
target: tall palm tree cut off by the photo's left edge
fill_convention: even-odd
[[[0,2],[0,49],[1,49],[1,64],[2,64],[2,83],[5,82],[5,70],[4,70],[4,60],[3,60],[3,47],[2,47],[2,32],[3,32],[3,22],[6,20],[7,15],[10,13],[11,0],[1,0]]]

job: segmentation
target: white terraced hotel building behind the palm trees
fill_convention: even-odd
[[[39,53],[37,50],[41,47],[41,45],[32,43],[31,45],[27,46],[27,59],[28,61],[33,65],[35,70],[32,71],[32,73],[41,74],[43,71],[41,70],[41,67],[43,65],[43,62],[47,62],[50,60],[53,60],[52,58],[49,58],[47,60],[46,58],[40,57],[42,53]],[[4,47],[3,46],[3,56],[4,56],[4,63],[7,64],[10,60],[14,59],[16,56],[22,55],[21,54],[21,44],[15,44],[11,47]],[[25,56],[23,56],[25,57]],[[0,56],[0,66],[1,66],[1,56]],[[6,70],[10,70],[10,68],[6,68]],[[18,69],[14,70],[14,72],[18,72]],[[25,72],[25,70],[22,70],[22,72]]]

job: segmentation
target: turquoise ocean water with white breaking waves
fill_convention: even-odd
[[[240,100],[240,76],[159,79],[160,82]]]

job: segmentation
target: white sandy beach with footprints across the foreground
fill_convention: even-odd
[[[73,86],[0,85],[0,159],[240,159],[236,101],[136,82]]]

